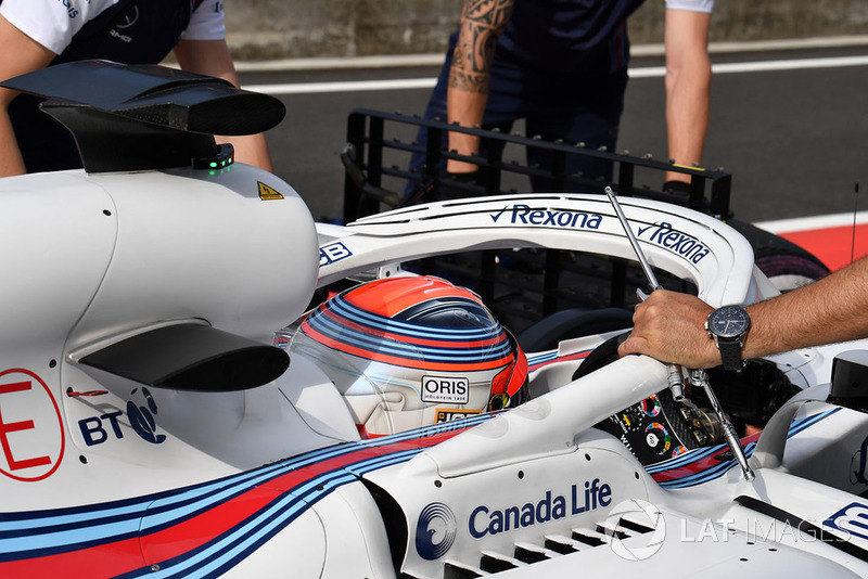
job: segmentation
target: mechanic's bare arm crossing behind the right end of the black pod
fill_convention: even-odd
[[[225,40],[181,40],[175,47],[175,57],[184,70],[216,76],[239,86],[232,56]],[[235,160],[272,170],[271,156],[265,134],[217,137],[218,143],[232,143]]]

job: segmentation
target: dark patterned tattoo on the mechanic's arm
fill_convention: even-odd
[[[465,0],[449,85],[468,92],[488,92],[495,47],[512,15],[515,0]]]

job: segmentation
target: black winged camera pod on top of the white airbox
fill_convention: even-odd
[[[88,172],[190,166],[219,154],[214,134],[253,134],[286,113],[273,97],[158,65],[81,61],[0,86],[48,99],[40,107],[75,137]]]

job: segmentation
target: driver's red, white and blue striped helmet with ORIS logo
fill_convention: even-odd
[[[314,309],[290,351],[319,363],[363,437],[529,398],[527,359],[480,297],[439,278],[357,285]]]

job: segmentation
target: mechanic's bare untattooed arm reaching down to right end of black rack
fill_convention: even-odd
[[[669,158],[678,165],[702,162],[709,131],[712,65],[709,59],[711,13],[666,9],[666,129]],[[666,180],[690,177],[667,172]]]

